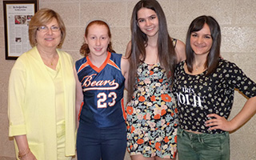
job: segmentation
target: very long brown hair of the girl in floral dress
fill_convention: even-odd
[[[138,27],[138,10],[147,8],[154,10],[158,16],[158,58],[160,65],[166,70],[168,78],[172,78],[174,75],[174,67],[177,63],[177,57],[174,51],[174,46],[170,35],[167,30],[166,16],[162,10],[162,7],[156,0],[141,0],[135,6],[130,21],[131,28],[131,50],[128,58],[130,60],[129,75],[137,75],[138,65],[146,58],[146,46],[148,38],[146,34]],[[134,76],[128,78],[128,101],[134,94]]]

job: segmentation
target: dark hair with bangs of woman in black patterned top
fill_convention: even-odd
[[[195,18],[191,22],[189,30],[186,34],[186,65],[188,70],[192,72],[194,64],[194,51],[190,46],[190,36],[193,32],[202,30],[205,24],[209,26],[211,38],[213,39],[213,44],[210,48],[209,54],[207,55],[206,63],[204,64],[205,68],[207,68],[206,75],[208,75],[213,73],[218,66],[222,39],[220,26],[218,25],[218,22],[211,16],[202,15]]]

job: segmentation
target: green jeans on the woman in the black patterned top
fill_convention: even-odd
[[[230,134],[194,134],[178,128],[178,160],[230,160]]]

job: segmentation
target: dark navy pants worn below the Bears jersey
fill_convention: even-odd
[[[123,160],[126,154],[126,124],[97,128],[82,124],[78,127],[78,160]]]

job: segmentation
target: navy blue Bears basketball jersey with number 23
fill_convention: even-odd
[[[121,71],[121,58],[122,54],[108,52],[105,62],[99,68],[88,57],[75,63],[84,96],[79,113],[80,122],[97,127],[124,122],[125,78]]]

